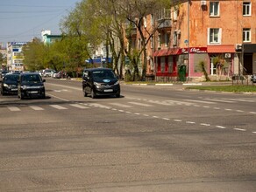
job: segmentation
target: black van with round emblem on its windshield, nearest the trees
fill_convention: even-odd
[[[84,97],[114,95],[120,97],[120,85],[116,74],[108,68],[84,69],[82,74],[82,92]]]

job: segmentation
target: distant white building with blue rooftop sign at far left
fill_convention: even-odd
[[[7,69],[9,71],[24,71],[24,55],[22,48],[27,42],[8,42],[7,43]]]

